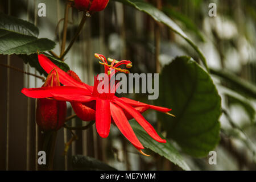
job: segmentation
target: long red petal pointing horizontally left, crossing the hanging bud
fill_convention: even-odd
[[[46,86],[34,89],[23,88],[21,92],[32,98],[53,97],[53,94],[55,96],[67,96],[72,94],[85,96],[86,94],[90,94],[88,90],[75,86]]]

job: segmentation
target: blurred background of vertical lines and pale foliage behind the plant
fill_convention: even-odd
[[[46,3],[46,17],[38,17],[38,3]],[[217,165],[206,158],[193,158],[183,154],[192,170],[249,170],[255,167],[256,130],[255,96],[251,90],[256,82],[256,1],[249,0],[162,0],[147,1],[170,16],[203,51],[213,81],[222,98],[221,139],[214,149]],[[216,3],[217,16],[208,15],[209,3]],[[8,0],[0,1],[0,11],[28,20],[39,27],[40,38],[55,40],[54,51],[59,55],[65,1],[61,0]],[[82,13],[72,9],[69,13],[67,41],[75,34]],[[59,26],[56,27],[56,25]],[[158,44],[160,42],[160,44]],[[156,64],[156,51],[160,65]],[[110,0],[104,11],[95,13],[86,21],[79,39],[66,56],[65,63],[92,85],[94,75],[102,71],[94,53],[131,60],[131,73],[156,73],[176,56],[188,55],[199,61],[197,53],[180,36],[163,24],[155,23],[147,14]],[[157,58],[158,59],[158,58]],[[0,55],[0,63],[10,64],[26,72],[35,69],[24,64],[16,55]],[[217,72],[217,71],[223,72]],[[231,76],[230,76],[230,74]],[[39,73],[36,73],[39,75]],[[220,77],[225,77],[223,81]],[[248,81],[247,90],[230,84],[240,79]],[[241,82],[243,82],[241,80]],[[232,82],[233,81],[233,82]],[[43,82],[0,66],[0,169],[35,170],[40,150],[41,131],[35,123],[35,100],[25,97],[22,88],[35,88]],[[229,89],[224,86],[229,86]],[[235,91],[235,92],[234,92]],[[254,92],[255,93],[255,92]],[[127,96],[127,94],[126,94]],[[131,94],[135,100],[147,101],[146,94]],[[73,114],[68,105],[68,115]],[[156,126],[156,113],[147,111],[144,116]],[[68,123],[79,126],[79,118]],[[147,158],[139,154],[119,131],[112,126],[110,136],[102,139],[95,126],[76,131],[79,139],[72,143],[68,154],[63,155],[64,143],[71,138],[67,129],[57,135],[54,169],[69,170],[73,155],[92,156],[119,170],[179,170],[175,164],[157,154]],[[175,142],[172,141],[172,143]],[[8,158],[8,160],[6,160]]]

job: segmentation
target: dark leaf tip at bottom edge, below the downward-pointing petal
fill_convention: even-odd
[[[84,155],[72,156],[72,167],[74,170],[106,170],[106,171],[117,171],[117,169],[109,166],[108,164],[102,163],[100,160],[91,158]]]

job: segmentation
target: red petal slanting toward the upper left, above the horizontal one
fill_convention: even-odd
[[[55,68],[56,71],[59,73],[60,82],[63,85],[66,85],[66,86],[78,86],[78,87],[86,88],[86,89],[90,88],[89,85],[86,85],[83,82],[79,82],[79,81],[75,80],[74,78],[72,78],[71,76],[69,76],[66,72],[64,72],[62,69],[60,69],[55,64],[53,64],[52,61],[49,60],[45,55],[38,55],[38,60],[39,60],[39,63],[41,65],[41,67],[47,73],[51,72],[52,69]],[[90,90],[90,91],[92,92],[92,90]]]

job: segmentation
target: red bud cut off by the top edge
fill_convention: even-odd
[[[75,6],[84,11],[102,11],[108,2],[109,0],[75,0]]]

